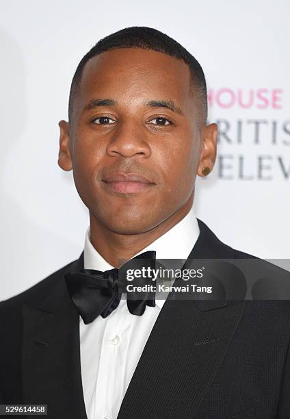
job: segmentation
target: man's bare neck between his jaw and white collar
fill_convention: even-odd
[[[190,196],[183,207],[153,229],[132,235],[120,234],[107,229],[90,213],[90,241],[94,249],[111,266],[118,268],[179,223],[188,214],[193,201],[194,194]]]

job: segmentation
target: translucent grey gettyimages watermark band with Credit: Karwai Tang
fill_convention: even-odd
[[[119,269],[122,298],[290,300],[290,259],[132,260]]]

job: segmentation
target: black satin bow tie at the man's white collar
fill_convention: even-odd
[[[128,270],[141,270],[148,272],[148,268],[155,269],[155,251],[148,251],[137,255],[122,265],[120,268],[105,270],[82,269],[77,272],[68,272],[64,275],[66,286],[77,307],[85,325],[92,322],[101,314],[103,318],[118,307],[122,292],[127,292],[127,285],[133,287],[144,286],[142,292],[127,292],[127,307],[131,314],[142,316],[146,305],[155,307],[155,281],[149,275],[140,275],[139,272],[129,271],[133,280],[128,279]],[[138,275],[137,275],[138,274]],[[131,278],[132,278],[131,277]]]

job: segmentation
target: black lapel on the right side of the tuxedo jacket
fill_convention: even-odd
[[[230,258],[231,249],[198,220],[187,259]],[[172,300],[163,305],[124,396],[118,419],[192,419],[243,315],[244,302]]]

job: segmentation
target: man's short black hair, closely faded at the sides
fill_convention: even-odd
[[[202,122],[207,121],[207,84],[205,81],[205,74],[202,67],[194,56],[189,53],[179,42],[170,38],[170,36],[163,34],[163,32],[146,26],[125,27],[114,34],[108,35],[99,40],[88,53],[79,62],[75,75],[72,78],[70,86],[70,97],[68,103],[68,119],[71,120],[73,112],[73,102],[79,84],[81,75],[85,64],[90,58],[95,57],[105,51],[117,48],[142,48],[152,51],[157,51],[170,55],[179,60],[183,60],[190,69],[192,75],[191,89],[195,94],[196,99],[199,100],[202,111]]]

